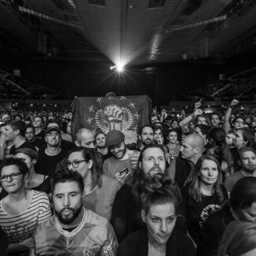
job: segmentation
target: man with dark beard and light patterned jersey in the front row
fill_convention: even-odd
[[[62,169],[51,186],[55,215],[35,230],[30,255],[115,255],[118,241],[111,224],[83,207],[81,175]]]

